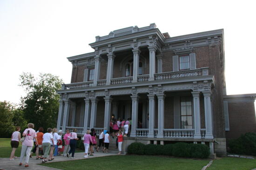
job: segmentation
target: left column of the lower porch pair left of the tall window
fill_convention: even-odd
[[[155,127],[155,95],[148,94],[149,122],[148,122],[148,138],[154,138]]]

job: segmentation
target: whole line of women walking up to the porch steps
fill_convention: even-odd
[[[120,123],[116,123],[116,126],[119,125],[118,130],[114,132],[115,136],[117,136],[117,142],[118,142],[118,148],[119,153],[121,154],[121,145],[123,141],[123,132],[122,132],[122,126],[129,125],[127,121],[122,122],[119,120]],[[125,129],[125,135],[128,133],[128,128]],[[20,153],[20,166],[22,165],[23,158],[26,154],[25,159],[25,167],[28,167],[28,161],[29,157],[31,157],[31,150],[34,145],[34,149],[36,152],[36,159],[42,159],[42,163],[45,163],[47,161],[52,161],[54,159],[54,156],[60,155],[59,154],[59,148],[62,147],[62,131],[59,130],[57,132],[56,128],[47,128],[47,132],[43,133],[44,129],[42,127],[39,128],[37,132],[34,130],[34,124],[29,123],[27,124],[27,129],[22,133],[22,138],[20,135],[20,126],[17,126],[15,129],[15,132],[12,134],[11,139],[11,147],[13,148],[10,156],[10,160],[14,160],[16,158],[14,156],[16,149],[19,147],[19,143],[21,142],[22,148]],[[64,142],[65,147],[63,151],[63,156],[67,156],[71,158],[74,158],[74,152],[77,140],[79,138],[77,137],[76,129],[73,129],[72,132],[67,130],[66,134],[64,135]],[[85,147],[85,155],[84,157],[87,158],[88,155],[93,156],[94,153],[94,147],[97,145],[97,135],[92,128],[91,130],[87,130],[86,134],[84,134],[83,143]],[[99,151],[99,149],[102,146],[102,151],[105,153],[108,153],[108,147],[110,143],[110,133],[104,129],[101,130],[99,135],[99,144],[96,149],[96,151]],[[43,156],[39,156],[39,152],[43,152]],[[49,156],[49,157],[48,157]],[[47,159],[48,157],[48,159]]]

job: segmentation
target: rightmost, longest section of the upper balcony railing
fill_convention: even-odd
[[[191,77],[191,76],[206,76],[208,68],[189,69],[184,71],[165,72],[155,74],[155,80],[168,80],[175,78]]]

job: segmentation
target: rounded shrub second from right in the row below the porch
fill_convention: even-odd
[[[176,157],[191,157],[190,145],[178,142],[173,145],[172,155]]]

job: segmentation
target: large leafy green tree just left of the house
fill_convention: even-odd
[[[34,77],[31,73],[20,75],[20,86],[26,89],[27,95],[21,98],[21,109],[25,119],[34,123],[35,129],[42,126],[56,127],[59,94],[56,90],[61,88],[62,80],[52,74],[41,74]]]

